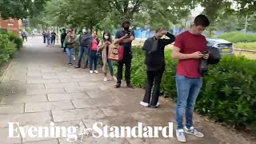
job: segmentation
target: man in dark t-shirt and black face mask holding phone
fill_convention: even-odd
[[[115,43],[118,43],[120,46],[124,46],[124,55],[123,60],[118,62],[118,82],[114,86],[115,88],[119,88],[121,86],[122,81],[122,68],[125,64],[126,66],[126,85],[127,87],[134,88],[134,86],[130,83],[130,68],[131,68],[131,42],[133,42],[135,36],[134,31],[130,30],[130,21],[125,20],[122,22],[122,30],[118,30],[115,34]]]

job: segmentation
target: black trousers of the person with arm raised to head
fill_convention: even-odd
[[[163,71],[164,70],[146,71],[147,82],[146,82],[146,92],[144,95],[143,102],[150,103],[151,106],[156,106],[158,103],[158,98],[160,95],[160,84],[162,81]],[[152,99],[150,102],[153,85],[154,85],[154,88],[152,93]]]

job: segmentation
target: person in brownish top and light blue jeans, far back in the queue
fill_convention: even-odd
[[[69,30],[68,34],[66,34],[65,42],[66,42],[66,54],[68,56],[68,64],[72,66],[73,60],[74,60],[72,55],[74,55],[74,42],[75,42],[75,34],[72,29]]]

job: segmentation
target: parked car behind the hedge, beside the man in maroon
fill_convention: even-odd
[[[218,48],[220,54],[234,55],[234,46],[232,42],[228,42],[224,39],[206,38],[207,46]]]

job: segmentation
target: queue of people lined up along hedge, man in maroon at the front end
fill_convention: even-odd
[[[156,30],[154,37],[147,38],[142,46],[145,50],[146,58],[146,90],[144,98],[140,105],[145,107],[158,107],[160,96],[160,85],[162,82],[162,75],[166,68],[165,62],[165,47],[172,42],[174,43],[174,50],[172,51],[172,58],[178,59],[176,85],[178,101],[176,106],[176,122],[177,130],[176,136],[178,141],[186,142],[185,134],[193,134],[197,137],[204,137],[204,134],[198,129],[194,128],[193,112],[196,98],[202,87],[202,74],[199,70],[199,65],[202,59],[210,58],[210,53],[206,53],[206,38],[202,32],[210,25],[208,18],[200,14],[194,19],[194,25],[191,30],[179,34],[177,38],[166,28],[161,26]],[[163,35],[169,37],[162,38]],[[122,83],[123,66],[125,66],[126,86],[134,89],[130,81],[130,70],[132,62],[132,42],[134,41],[134,31],[130,30],[130,21],[122,22],[122,30],[118,30],[115,34],[114,40],[111,38],[110,31],[105,30],[102,40],[98,40],[96,31],[89,34],[86,29],[82,30],[82,35],[78,38],[79,41],[79,56],[78,66],[81,68],[82,56],[85,54],[86,62],[83,68],[86,68],[88,61],[90,63],[90,73],[98,73],[97,58],[98,54],[102,57],[102,72],[104,74],[104,81],[108,79],[107,68],[110,70],[110,80],[114,79],[113,62],[108,58],[110,49],[113,44],[123,46],[123,58],[118,61],[117,83],[115,88],[120,88]],[[62,43],[66,42],[66,52],[68,54],[68,63],[72,65],[72,54],[74,54],[75,35],[72,30],[68,34],[63,33]],[[186,125],[183,124],[183,117],[186,117]]]

